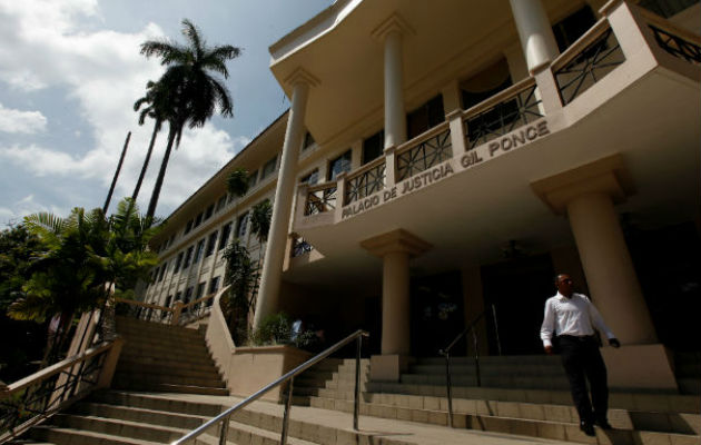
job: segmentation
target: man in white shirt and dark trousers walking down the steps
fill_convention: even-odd
[[[541,327],[543,348],[546,354],[554,354],[553,335],[557,337],[562,366],[567,374],[572,399],[580,415],[580,428],[588,436],[594,436],[594,423],[601,428],[611,428],[606,418],[606,366],[599,352],[594,329],[605,335],[611,346],[618,348],[621,344],[589,298],[573,291],[569,275],[557,275],[555,286],[557,294],[545,301],[545,316]],[[586,379],[591,386],[591,400]]]

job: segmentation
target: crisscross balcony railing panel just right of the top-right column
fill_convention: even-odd
[[[566,106],[625,61],[608,20],[600,20],[553,62],[552,71]]]

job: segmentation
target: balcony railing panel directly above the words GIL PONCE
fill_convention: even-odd
[[[543,117],[535,79],[506,88],[463,113],[467,150]]]

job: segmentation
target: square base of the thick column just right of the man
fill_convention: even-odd
[[[662,344],[605,347],[601,355],[606,363],[612,389],[655,389],[678,393],[673,357]]]

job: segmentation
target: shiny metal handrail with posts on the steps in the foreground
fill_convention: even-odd
[[[284,384],[285,382],[289,382],[289,384],[287,385],[287,399],[285,400],[285,413],[283,415],[283,431],[280,433],[280,445],[286,445],[287,444],[287,435],[288,435],[288,432],[289,432],[289,427],[288,427],[288,425],[289,425],[289,412],[292,409],[293,386],[294,386],[295,377],[297,375],[304,373],[305,370],[309,369],[312,366],[316,365],[317,363],[322,362],[324,358],[326,358],[329,355],[334,354],[336,350],[338,350],[342,347],[350,344],[353,340],[356,342],[355,393],[354,393],[355,405],[354,405],[354,409],[353,409],[353,428],[355,431],[357,431],[358,429],[358,416],[361,414],[361,352],[362,352],[362,348],[363,348],[363,337],[369,337],[369,334],[367,332],[365,332],[365,330],[362,330],[362,329],[356,330],[355,333],[350,334],[346,338],[342,339],[340,342],[336,343],[335,345],[328,347],[324,352],[315,355],[314,357],[309,358],[308,360],[306,360],[302,365],[299,365],[296,368],[292,369],[290,372],[288,372],[287,374],[285,374],[280,378],[278,378],[277,380],[275,380],[275,382],[264,386],[263,388],[258,389],[256,393],[254,393],[253,395],[248,396],[246,399],[244,399],[244,400],[239,402],[238,404],[231,406],[230,408],[228,408],[224,413],[219,414],[218,416],[214,417],[209,422],[207,422],[207,423],[203,424],[201,426],[192,429],[191,432],[189,432],[185,436],[180,437],[179,439],[177,439],[175,442],[171,442],[170,445],[181,445],[181,444],[185,444],[185,443],[187,443],[189,441],[192,441],[196,437],[200,436],[203,433],[205,433],[207,429],[209,429],[211,426],[215,426],[215,425],[218,425],[218,424],[221,424],[221,427],[219,428],[219,445],[226,445],[228,431],[229,431],[229,418],[231,417],[231,415],[234,415],[236,412],[238,412],[239,409],[244,408],[245,406],[251,404],[253,402],[259,399],[263,395],[265,395],[267,392],[271,390],[273,388]]]

